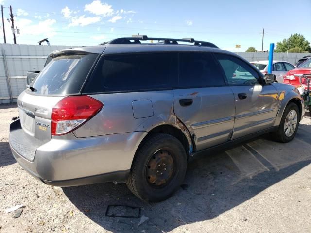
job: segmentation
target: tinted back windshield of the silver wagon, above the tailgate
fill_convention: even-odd
[[[60,96],[79,93],[97,56],[68,55],[52,59],[32,83],[35,89],[32,93]]]

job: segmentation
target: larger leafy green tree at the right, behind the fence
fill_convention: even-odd
[[[277,42],[276,49],[274,51],[287,52],[287,48],[289,48],[289,51],[293,49],[294,51],[299,50],[299,52],[311,52],[309,41],[306,40],[306,38],[303,35],[297,33],[291,35],[288,39],[284,39],[283,41]]]

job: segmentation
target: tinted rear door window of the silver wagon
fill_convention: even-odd
[[[178,87],[222,85],[225,85],[225,81],[212,54],[203,52],[180,53]]]

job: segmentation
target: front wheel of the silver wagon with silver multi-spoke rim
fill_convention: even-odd
[[[297,104],[290,103],[286,106],[281,122],[274,135],[274,140],[278,142],[289,142],[293,140],[297,133],[300,113]]]

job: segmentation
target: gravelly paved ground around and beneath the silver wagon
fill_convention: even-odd
[[[17,115],[0,105],[0,233],[311,232],[311,117],[290,143],[262,137],[192,159],[177,193],[149,204],[124,183],[60,188],[32,178],[8,145]],[[17,204],[19,218],[5,212]],[[142,217],[107,217],[111,204],[139,207]]]

